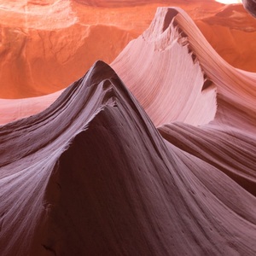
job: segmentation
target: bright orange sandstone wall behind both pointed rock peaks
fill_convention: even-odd
[[[97,8],[102,6],[103,8]],[[125,6],[124,6],[125,4]],[[180,6],[231,65],[256,71],[256,21],[242,5],[215,1],[2,1],[0,97],[42,96],[111,63],[161,5]],[[242,40],[241,40],[242,38]]]

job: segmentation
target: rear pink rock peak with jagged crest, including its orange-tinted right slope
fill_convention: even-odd
[[[158,9],[148,30],[127,45],[112,67],[157,126],[174,120],[207,124],[216,103],[222,115],[231,105],[227,115],[241,109],[255,125],[255,73],[224,61],[182,9]],[[232,120],[231,125],[239,124]]]

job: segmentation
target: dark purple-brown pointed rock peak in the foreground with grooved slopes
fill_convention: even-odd
[[[1,255],[256,252],[255,197],[164,140],[102,61],[0,138]]]

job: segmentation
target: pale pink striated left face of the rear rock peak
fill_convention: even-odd
[[[187,31],[172,20],[175,15],[176,9],[158,9],[148,30],[131,41],[111,65],[154,125],[174,120],[207,124],[216,112],[216,86],[191,51]],[[202,35],[196,38],[199,44],[207,43]]]

